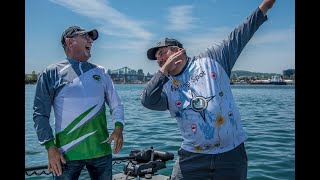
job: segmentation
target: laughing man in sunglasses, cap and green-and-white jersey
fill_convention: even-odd
[[[61,36],[66,58],[40,74],[34,98],[34,128],[48,151],[55,179],[78,179],[84,166],[92,179],[112,179],[112,149],[123,144],[124,112],[106,69],[88,62],[96,29],[67,28]],[[114,130],[107,128],[106,104]],[[51,107],[54,129],[49,123]]]

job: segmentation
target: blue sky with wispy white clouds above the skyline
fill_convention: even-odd
[[[178,39],[188,56],[219,44],[262,0],[26,0],[25,73],[65,58],[61,33],[71,25],[96,28],[90,62],[153,74],[146,51],[161,38]],[[278,0],[233,70],[282,73],[295,69],[295,1]]]

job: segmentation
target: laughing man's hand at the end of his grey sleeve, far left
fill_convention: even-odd
[[[52,171],[54,176],[61,176],[61,163],[66,163],[63,155],[59,152],[57,147],[51,146],[48,149],[48,171]]]

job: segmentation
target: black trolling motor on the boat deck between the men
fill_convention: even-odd
[[[166,168],[166,162],[174,158],[173,153],[157,151],[153,147],[146,151],[132,150],[129,156],[133,160],[124,165],[123,171],[131,176],[154,174],[159,169]]]

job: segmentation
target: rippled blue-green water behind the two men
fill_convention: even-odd
[[[151,111],[140,104],[144,84],[116,84],[125,108],[124,145],[113,157],[128,156],[133,149],[153,146],[175,155],[158,173],[170,175],[182,138],[169,111]],[[35,86],[25,86],[25,166],[47,164],[47,152],[38,144],[32,120]],[[245,142],[249,160],[248,179],[295,179],[295,86],[232,85],[234,98],[249,138]],[[111,124],[111,121],[108,121]],[[109,127],[112,131],[113,127]],[[114,174],[123,164],[115,164]],[[86,172],[81,179],[87,179]],[[26,179],[52,179],[49,175]]]

